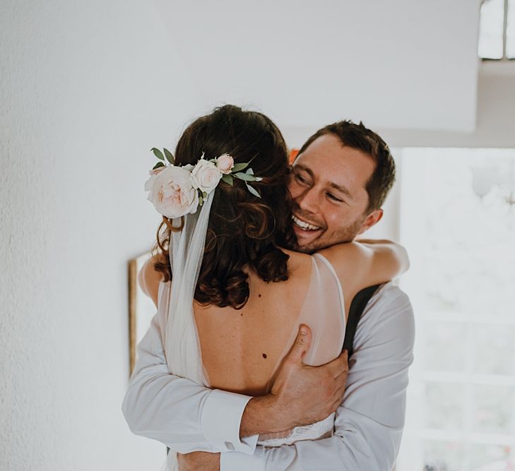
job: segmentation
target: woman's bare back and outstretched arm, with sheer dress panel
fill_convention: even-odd
[[[290,256],[290,278],[267,283],[249,273],[250,297],[243,309],[194,303],[204,376],[212,388],[249,395],[267,393],[300,323],[312,328],[304,362],[331,361],[341,351],[345,318],[357,291],[386,282],[407,268],[403,268],[405,251],[389,242],[375,250],[362,244],[342,244],[314,256],[285,252]],[[159,290],[160,273],[142,271],[141,284],[158,306],[158,292],[167,292]]]

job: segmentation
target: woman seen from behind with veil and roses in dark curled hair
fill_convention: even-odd
[[[159,167],[148,184],[163,223],[158,251],[141,272],[172,374],[266,394],[300,323],[312,329],[304,362],[330,361],[341,352],[354,295],[407,266],[395,244],[341,244],[313,256],[285,249],[295,242],[288,154],[263,114],[225,106],[197,119],[180,138],[174,164],[183,170]],[[166,207],[170,184],[174,205]],[[332,426],[330,415],[259,443],[318,439]]]

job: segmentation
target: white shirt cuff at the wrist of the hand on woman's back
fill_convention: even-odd
[[[219,389],[213,389],[208,394],[202,408],[201,429],[215,451],[239,451],[247,455],[254,453],[259,436],[239,439],[239,426],[249,400],[249,395]]]

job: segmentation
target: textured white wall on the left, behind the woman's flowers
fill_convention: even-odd
[[[0,469],[158,469],[120,410],[126,261],[157,223],[149,148],[205,109],[152,4],[0,14]]]

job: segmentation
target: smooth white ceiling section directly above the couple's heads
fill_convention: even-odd
[[[480,0],[155,0],[208,106],[279,126],[475,128]]]

